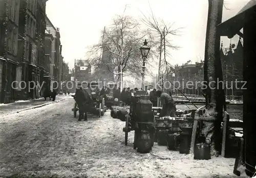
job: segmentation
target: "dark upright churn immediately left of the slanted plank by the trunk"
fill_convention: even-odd
[[[193,128],[182,128],[180,134],[180,154],[189,154]]]

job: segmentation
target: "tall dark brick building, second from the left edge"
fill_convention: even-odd
[[[19,2],[18,57],[21,62],[17,71],[20,72],[21,70],[21,80],[25,81],[26,84],[30,81],[41,84],[47,67],[44,46],[47,0],[20,0]],[[19,88],[16,92],[17,99],[39,98],[41,96],[41,92],[36,87],[30,91],[28,87]]]

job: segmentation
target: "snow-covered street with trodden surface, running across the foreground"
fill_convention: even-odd
[[[154,144],[149,154],[124,145],[125,125],[110,117],[77,121],[68,97],[41,108],[1,116],[0,177],[236,177],[234,159],[191,155]]]

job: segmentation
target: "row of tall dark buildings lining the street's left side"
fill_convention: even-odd
[[[50,88],[51,80],[60,82],[69,72],[59,28],[46,16],[46,2],[0,1],[0,103],[39,98],[44,90],[33,83]]]

